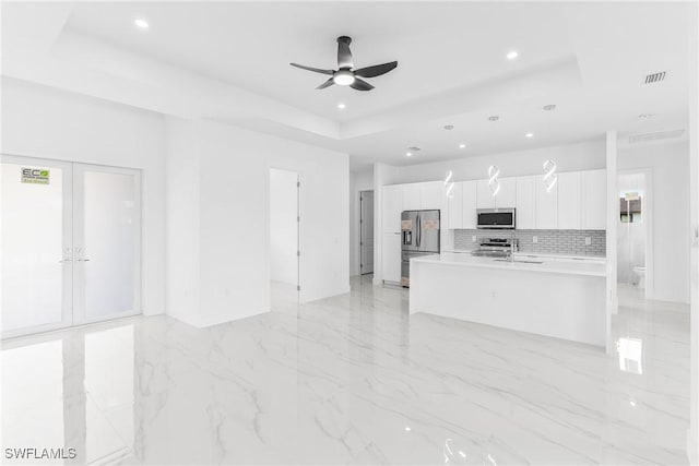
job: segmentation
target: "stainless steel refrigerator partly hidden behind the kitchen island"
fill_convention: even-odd
[[[411,259],[439,254],[439,211],[404,211],[401,214],[401,285],[410,287]]]

